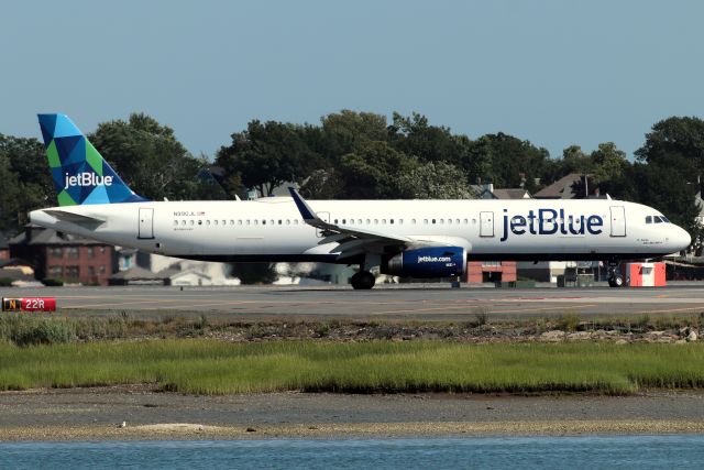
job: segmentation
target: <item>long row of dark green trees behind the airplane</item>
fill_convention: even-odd
[[[139,194],[150,199],[234,199],[248,189],[268,196],[285,182],[304,196],[336,199],[471,198],[472,185],[524,187],[531,193],[570,173],[587,174],[591,192],[661,210],[695,238],[695,194],[704,170],[704,121],[671,117],[657,122],[631,162],[613,142],[561,157],[502,132],[474,140],[432,125],[419,113],[342,110],[319,124],[252,120],[231,134],[210,162],[195,156],[173,129],[133,113],[100,123],[88,135]],[[0,231],[14,232],[56,195],[36,139],[0,133]]]

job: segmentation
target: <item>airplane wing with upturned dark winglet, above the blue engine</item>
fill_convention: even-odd
[[[288,192],[294,198],[294,203],[296,203],[296,207],[304,218],[304,221],[311,227],[322,230],[323,238],[318,244],[338,243],[333,251],[339,252],[339,260],[363,253],[381,253],[388,250],[403,251],[408,247],[450,247],[460,244],[469,248],[466,240],[462,239],[462,241],[458,241],[455,237],[406,237],[360,227],[352,228],[326,222],[316,215],[295,188],[289,187]]]

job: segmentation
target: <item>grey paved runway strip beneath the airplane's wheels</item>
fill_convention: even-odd
[[[704,311],[704,284],[664,288],[450,288],[444,285],[350,287],[43,287],[3,288],[3,297],[56,297],[72,316],[208,315],[241,319],[345,317],[457,320],[492,317],[594,315],[693,315]]]

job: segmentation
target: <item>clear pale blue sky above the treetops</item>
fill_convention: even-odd
[[[145,112],[213,157],[253,119],[341,109],[504,132],[559,157],[704,117],[701,1],[12,1],[0,13],[0,133],[36,113],[86,133]]]

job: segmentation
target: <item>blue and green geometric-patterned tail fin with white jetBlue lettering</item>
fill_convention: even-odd
[[[59,206],[140,203],[66,114],[38,114]]]

